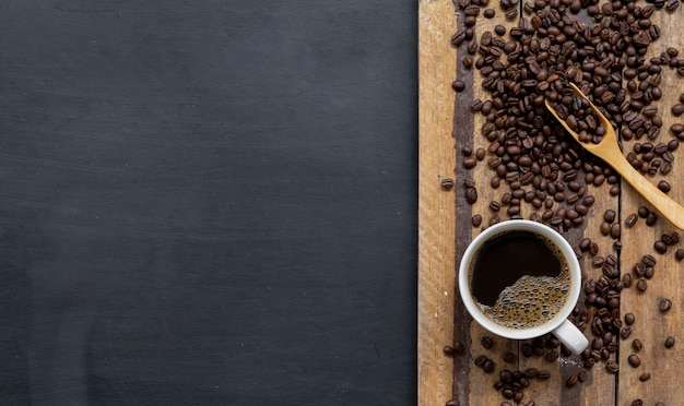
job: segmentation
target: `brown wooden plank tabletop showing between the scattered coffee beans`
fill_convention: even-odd
[[[642,4],[644,5],[644,4]],[[495,24],[511,26],[516,22],[506,22],[498,8],[498,2],[490,5],[497,10],[492,20],[480,17],[476,32],[492,29]],[[504,397],[493,389],[493,383],[503,368],[524,370],[529,367],[547,369],[552,378],[546,381],[533,381],[524,391],[523,402],[534,401],[535,405],[629,405],[633,399],[641,398],[645,405],[664,402],[667,405],[684,404],[684,385],[682,374],[677,372],[684,360],[684,263],[675,261],[674,249],[682,242],[671,247],[665,254],[658,254],[653,242],[664,232],[674,231],[674,227],[663,218],[653,227],[646,227],[644,220],[637,226],[623,227],[622,243],[624,249],[618,253],[622,272],[629,271],[645,253],[653,254],[657,271],[648,280],[648,290],[638,294],[633,287],[622,292],[621,311],[624,315],[632,312],[636,315],[633,325],[634,334],[627,341],[621,341],[620,350],[612,358],[618,362],[617,375],[606,372],[605,362],[598,362],[587,370],[586,382],[568,389],[567,377],[582,369],[578,356],[561,357],[549,362],[543,357],[526,358],[520,354],[522,343],[495,337],[492,349],[485,349],[480,338],[487,334],[472,322],[458,298],[455,287],[456,270],[459,259],[471,238],[479,228],[471,226],[471,214],[482,213],[487,218],[486,204],[494,196],[487,188],[491,174],[484,163],[468,171],[479,188],[480,199],[471,207],[465,204],[461,187],[467,171],[460,165],[458,153],[464,145],[484,146],[484,138],[473,129],[482,124],[481,117],[474,117],[469,106],[474,97],[486,97],[481,91],[481,77],[457,69],[459,58],[457,48],[450,44],[450,36],[457,31],[460,11],[450,0],[422,0],[418,5],[420,24],[420,248],[418,248],[418,403],[421,405],[444,405],[449,399],[457,399],[461,405],[498,405]],[[684,51],[684,33],[681,21],[684,7],[675,12],[664,10],[656,12],[652,21],[662,28],[662,37],[651,45],[649,52],[660,55],[667,46]],[[649,53],[649,55],[650,55]],[[457,77],[467,83],[465,92],[458,95],[451,88]],[[663,97],[658,105],[663,118],[663,133],[674,122],[682,122],[670,114],[670,106],[676,103],[684,93],[684,79],[672,71],[662,75]],[[474,135],[473,135],[474,134]],[[664,136],[663,139],[670,139]],[[629,147],[630,143],[625,143]],[[684,153],[682,148],[674,153],[674,170],[669,180],[672,183],[670,196],[684,202],[684,182],[677,182],[682,174]],[[440,181],[451,178],[456,188],[445,191]],[[608,188],[593,189],[597,203],[588,214],[581,229],[566,234],[571,243],[577,244],[583,237],[589,237],[600,246],[600,255],[615,253],[610,237],[599,231],[603,213],[608,208],[617,212],[618,218],[635,213],[645,205],[645,201],[627,184],[621,184],[621,193],[611,196]],[[589,277],[598,278],[600,268],[590,265],[589,255],[580,260]],[[672,299],[672,310],[662,313],[659,301]],[[581,300],[581,299],[580,299]],[[583,306],[583,303],[580,303]],[[591,332],[586,334],[591,338]],[[665,349],[665,337],[673,336],[679,342],[671,349]],[[630,343],[640,338],[645,344],[638,351],[641,365],[632,368],[627,357],[634,354]],[[448,357],[443,348],[453,342],[465,346],[462,356]],[[504,362],[503,355],[512,351],[516,361]],[[486,355],[496,362],[496,370],[486,374],[473,363],[474,357]],[[639,375],[650,372],[652,378],[640,382]]]

